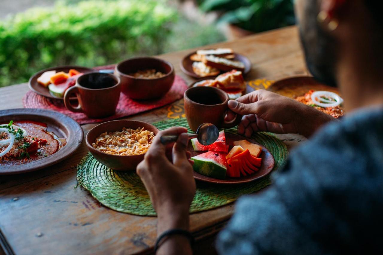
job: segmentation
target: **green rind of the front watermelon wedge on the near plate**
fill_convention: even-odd
[[[193,170],[195,172],[216,179],[226,178],[226,165],[222,165],[214,159],[208,159],[206,157],[203,157],[203,154],[201,155],[197,155],[191,158],[191,160],[194,161]]]

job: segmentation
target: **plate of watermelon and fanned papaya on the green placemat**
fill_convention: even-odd
[[[274,168],[273,155],[252,139],[222,130],[216,142],[204,146],[191,139],[193,175],[210,183],[238,184],[257,180]]]

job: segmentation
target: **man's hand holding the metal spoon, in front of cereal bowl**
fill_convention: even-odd
[[[137,174],[149,193],[154,209],[158,214],[158,232],[169,228],[188,229],[188,214],[195,194],[193,167],[188,160],[187,129],[172,127],[160,131],[137,166]],[[179,135],[174,144],[163,145],[163,135]],[[171,159],[167,157],[171,152]]]

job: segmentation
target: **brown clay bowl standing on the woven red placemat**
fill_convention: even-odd
[[[155,69],[166,75],[155,79],[129,75],[146,69]],[[155,57],[136,57],[117,64],[115,75],[121,79],[121,90],[126,96],[135,100],[151,100],[161,98],[170,90],[174,82],[174,67],[169,62]]]

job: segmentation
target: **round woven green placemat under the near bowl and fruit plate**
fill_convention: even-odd
[[[154,125],[160,130],[173,126],[188,127],[185,118],[161,121]],[[234,128],[226,129],[226,132],[237,133]],[[273,170],[285,162],[286,145],[273,134],[258,132],[252,139],[264,145],[273,154],[275,159]],[[141,216],[156,215],[143,183],[133,171],[113,171],[88,153],[77,166],[77,181],[108,208]],[[238,185],[197,182],[196,195],[191,203],[190,212],[205,211],[232,203],[239,196],[253,193],[267,185],[270,185],[269,177]]]

